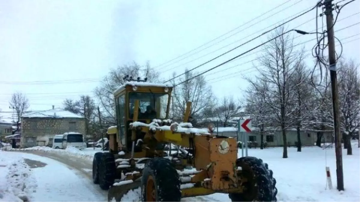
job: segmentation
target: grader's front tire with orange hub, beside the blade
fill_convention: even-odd
[[[148,200],[149,194],[154,199]],[[150,159],[141,177],[141,201],[180,202],[180,199],[180,179],[174,163],[165,158]]]

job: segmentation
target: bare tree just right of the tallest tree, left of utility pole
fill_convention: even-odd
[[[311,71],[305,64],[300,64],[295,68],[291,79],[293,83],[294,95],[294,127],[297,131],[297,151],[301,152],[301,129],[307,129],[310,126],[309,118],[312,115],[315,106],[312,105],[314,88],[311,86]]]

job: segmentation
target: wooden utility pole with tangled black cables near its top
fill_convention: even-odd
[[[336,155],[336,177],[337,189],[344,190],[344,175],[342,167],[342,149],[341,149],[341,131],[339,119],[339,93],[337,87],[337,74],[336,74],[336,53],[334,41],[334,16],[333,16],[333,0],[325,0],[325,15],[328,34],[328,47],[329,47],[329,70],[331,79],[331,92],[333,102],[333,115],[334,115],[334,139],[335,139],[335,155]]]

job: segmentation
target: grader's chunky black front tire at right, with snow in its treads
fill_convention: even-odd
[[[243,176],[249,181],[246,182],[243,193],[229,194],[231,202],[276,202],[276,180],[267,164],[256,157],[241,157],[236,165],[242,167]]]

